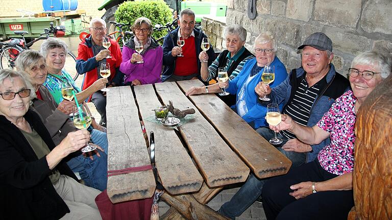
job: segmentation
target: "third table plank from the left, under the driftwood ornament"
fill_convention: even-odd
[[[195,108],[176,82],[163,82],[156,84],[155,87],[165,104],[172,100],[173,105],[181,110],[187,107]],[[216,187],[245,181],[249,168],[196,108],[195,111],[195,118],[182,125],[179,131],[208,186]]]

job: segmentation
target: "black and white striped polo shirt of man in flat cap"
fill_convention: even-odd
[[[313,102],[326,85],[327,79],[325,76],[312,87],[309,87],[304,74],[294,96],[283,109],[283,114],[290,116],[298,124],[307,126]],[[297,138],[295,134],[288,130],[282,130],[280,134],[287,137],[287,139]]]

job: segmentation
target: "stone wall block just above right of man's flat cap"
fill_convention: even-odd
[[[332,40],[333,50],[337,49],[356,56],[358,53],[370,50],[372,47],[372,41],[370,39],[346,33],[342,29],[327,28],[325,33],[328,33],[328,37]]]

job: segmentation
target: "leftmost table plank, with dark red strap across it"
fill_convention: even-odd
[[[108,170],[151,164],[141,131],[138,110],[130,87],[107,93]],[[155,191],[152,170],[108,177],[107,193],[113,203],[151,198]]]

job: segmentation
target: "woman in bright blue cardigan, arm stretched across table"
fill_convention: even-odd
[[[266,107],[257,104],[255,87],[261,81],[261,74],[266,65],[275,66],[275,80],[269,84],[278,86],[286,77],[284,64],[275,56],[276,41],[272,33],[265,32],[257,36],[254,43],[256,58],[247,61],[238,75],[226,82],[219,82],[204,89],[190,88],[186,95],[199,93],[219,93],[225,87],[230,94],[236,95],[236,103],[231,106],[243,120],[253,128],[267,126],[265,121]],[[200,91],[200,92],[198,92]]]

